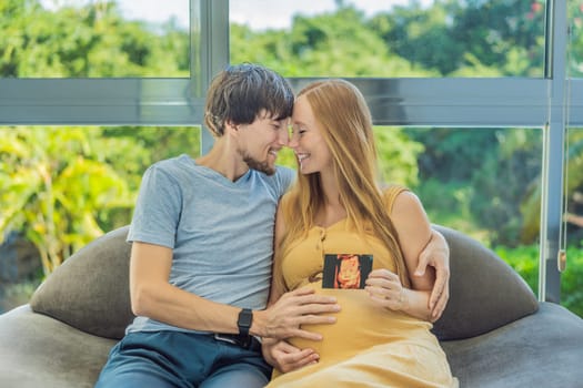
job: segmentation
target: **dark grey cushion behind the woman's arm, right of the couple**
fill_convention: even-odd
[[[524,279],[493,251],[454,229],[433,225],[450,245],[450,300],[434,324],[438,338],[479,336],[536,312]]]

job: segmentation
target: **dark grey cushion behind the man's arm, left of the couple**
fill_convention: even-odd
[[[128,228],[107,233],[69,257],[34,292],[32,310],[97,336],[121,338],[133,319]]]

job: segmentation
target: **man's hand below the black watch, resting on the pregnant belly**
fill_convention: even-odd
[[[334,314],[340,312],[336,298],[316,295],[310,287],[298,288],[285,293],[263,312],[254,312],[258,317],[258,331],[261,337],[285,339],[300,337],[311,340],[321,340],[322,335],[302,329],[302,325],[333,324],[336,321]],[[262,329],[261,329],[262,327]],[[253,326],[251,327],[253,329]]]

